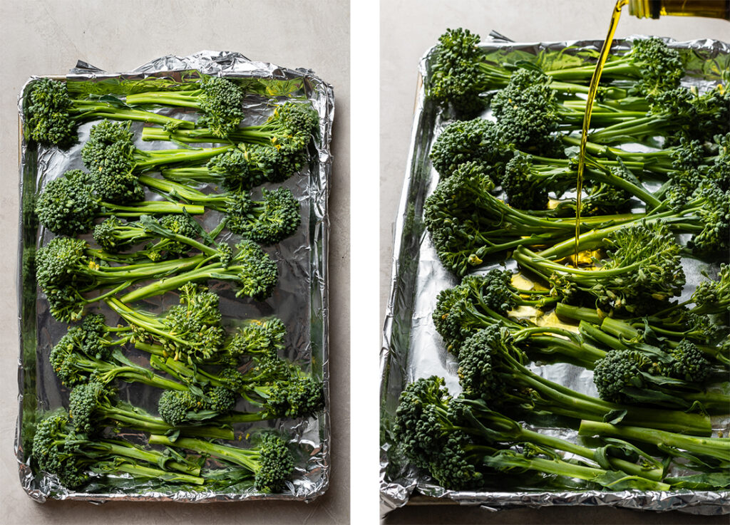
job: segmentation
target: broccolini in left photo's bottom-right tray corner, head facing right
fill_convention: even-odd
[[[255,476],[254,486],[262,492],[279,492],[294,470],[294,460],[287,443],[274,434],[257,435],[258,446],[238,448],[218,445],[210,441],[179,437],[170,440],[163,435],[150,435],[150,445],[164,445],[174,448],[185,448],[204,454],[224,462],[245,467]]]

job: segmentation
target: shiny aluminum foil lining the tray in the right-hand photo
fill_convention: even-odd
[[[546,66],[563,66],[597,56],[603,41],[567,41],[515,43],[492,31],[491,40],[480,47],[492,58],[514,62],[539,56]],[[631,36],[615,40],[613,50],[625,51],[631,40],[646,38]],[[715,40],[692,42],[668,41],[683,53],[687,60],[688,75],[683,84],[704,90],[718,80],[729,80],[730,46]],[[543,52],[558,51],[545,55]],[[383,514],[406,505],[413,492],[439,499],[450,499],[464,505],[482,505],[488,510],[506,507],[543,507],[548,505],[610,505],[637,510],[683,510],[696,514],[730,513],[730,491],[449,491],[434,484],[423,471],[408,464],[399,454],[391,437],[391,424],[404,386],[415,379],[442,376],[453,395],[461,392],[456,375],[456,359],[449,354],[431,321],[436,297],[442,289],[458,284],[456,276],[439,262],[431,238],[423,226],[423,202],[438,182],[438,174],[431,167],[429,150],[441,129],[452,115],[426,100],[423,79],[429,77],[434,58],[434,47],[423,55],[419,63],[418,96],[411,130],[410,152],[407,161],[401,200],[394,230],[393,269],[391,294],[385,313],[383,346],[380,351],[381,385],[381,447],[380,447],[380,502]],[[490,117],[485,112],[483,117]],[[637,149],[641,149],[637,147]],[[514,268],[514,261],[508,268]],[[691,295],[702,279],[701,271],[714,276],[717,265],[699,264],[684,260],[687,286],[683,295]],[[482,268],[480,273],[488,271]],[[532,370],[552,381],[558,381],[579,392],[596,395],[591,372],[573,365],[531,365]],[[728,435],[730,417],[715,418],[713,427]],[[576,441],[577,432],[571,429],[540,429],[551,435]]]

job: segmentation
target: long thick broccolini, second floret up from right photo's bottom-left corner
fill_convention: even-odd
[[[645,427],[709,435],[710,420],[696,413],[618,405],[575,392],[538,376],[523,365],[526,357],[510,331],[493,325],[466,340],[459,353],[459,382],[469,397],[481,397],[500,410],[547,411],[592,421],[621,421]]]

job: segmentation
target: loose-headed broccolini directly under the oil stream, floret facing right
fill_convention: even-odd
[[[577,292],[585,292],[603,311],[639,313],[641,308],[666,304],[682,291],[681,246],[661,222],[620,228],[604,243],[608,257],[595,269],[553,263],[524,246],[515,249],[513,257],[549,281],[553,295],[570,302]]]

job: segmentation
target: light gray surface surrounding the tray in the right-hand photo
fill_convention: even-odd
[[[380,2],[380,311],[385,316],[393,256],[393,222],[400,200],[410,144],[418,61],[437,44],[446,28],[464,27],[488,39],[495,30],[516,42],[604,39],[613,0],[401,0]],[[624,8],[616,38],[631,34],[671,36],[677,40],[712,38],[730,41],[730,23],[703,18],[639,20]],[[356,43],[357,44],[357,43]],[[407,507],[386,523],[729,523],[728,518],[699,518],[679,513],[630,510],[510,510],[488,513],[459,507]]]

